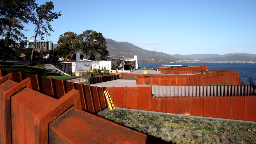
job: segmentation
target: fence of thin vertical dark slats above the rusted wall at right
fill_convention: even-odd
[[[255,96],[252,86],[152,86],[152,97]]]

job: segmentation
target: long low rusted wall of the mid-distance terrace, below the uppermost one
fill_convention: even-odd
[[[218,83],[241,85],[237,71],[217,71],[198,75],[149,75],[136,79],[137,85],[153,86],[203,86]]]

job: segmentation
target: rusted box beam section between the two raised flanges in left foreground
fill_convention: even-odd
[[[12,141],[35,143],[34,118],[57,101],[50,96],[25,88],[11,98]]]

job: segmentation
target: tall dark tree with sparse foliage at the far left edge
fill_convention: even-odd
[[[0,1],[0,56],[16,55],[17,48],[10,46],[15,41],[26,39],[22,31],[27,31],[23,24],[34,19],[35,0]]]

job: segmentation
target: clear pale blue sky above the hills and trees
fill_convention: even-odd
[[[50,1],[50,0],[49,0]],[[256,0],[51,0],[61,17],[45,40],[87,29],[167,54],[256,54]],[[36,0],[38,5],[46,1]],[[24,32],[32,40],[35,26]]]

